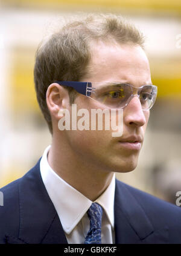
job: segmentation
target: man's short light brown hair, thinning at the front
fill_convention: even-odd
[[[51,133],[51,116],[46,105],[48,86],[57,80],[79,81],[88,72],[91,42],[98,40],[144,48],[144,36],[135,25],[122,16],[112,14],[72,18],[39,45],[34,65],[34,84],[37,101]],[[73,103],[77,92],[69,87],[67,90],[70,103]]]

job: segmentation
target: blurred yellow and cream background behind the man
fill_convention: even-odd
[[[158,97],[138,167],[116,176],[175,204],[181,191],[180,0],[0,1],[0,187],[22,177],[51,144],[34,91],[34,54],[57,19],[80,11],[122,15],[145,34]]]

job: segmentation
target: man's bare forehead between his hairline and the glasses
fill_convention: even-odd
[[[141,47],[98,42],[90,49],[84,77],[90,82],[127,82],[136,86],[151,83],[148,59]]]

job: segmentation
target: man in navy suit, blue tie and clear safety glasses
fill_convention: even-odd
[[[143,43],[122,18],[89,15],[40,45],[34,81],[52,143],[1,189],[0,243],[181,243],[180,208],[115,180],[136,168],[156,99]],[[116,120],[123,110],[122,135],[61,129],[72,103]]]

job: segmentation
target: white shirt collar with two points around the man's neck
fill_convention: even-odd
[[[40,173],[46,191],[59,215],[63,230],[67,234],[70,234],[90,208],[92,201],[66,183],[65,180],[58,176],[51,166],[49,166],[47,154],[50,147],[51,145],[45,149],[42,159],[40,160]],[[112,228],[114,226],[114,197],[115,174],[107,189],[95,200],[95,202],[99,203],[104,208]]]

